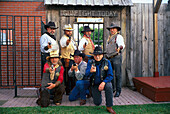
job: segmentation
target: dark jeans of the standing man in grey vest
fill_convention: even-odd
[[[111,59],[109,59],[113,68],[113,71],[115,72],[112,80],[112,85],[113,85],[113,90],[115,90],[115,85],[116,85],[116,91],[121,92],[121,83],[122,83],[122,71],[121,71],[121,66],[122,66],[122,56],[118,55],[115,56]],[[116,79],[116,84],[114,84],[114,79]]]

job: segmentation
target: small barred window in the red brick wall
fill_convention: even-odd
[[[13,45],[11,29],[0,30],[0,45]]]

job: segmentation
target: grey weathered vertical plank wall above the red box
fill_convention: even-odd
[[[152,77],[154,72],[152,4],[134,4],[131,7],[131,37],[127,51],[133,77]],[[160,76],[170,75],[170,11],[162,4],[158,12],[158,67]]]

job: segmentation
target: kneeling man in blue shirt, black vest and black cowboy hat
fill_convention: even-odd
[[[105,90],[106,109],[110,113],[115,113],[113,106],[113,89],[111,80],[113,79],[113,70],[109,60],[103,57],[101,47],[95,47],[94,59],[88,61],[85,76],[90,77],[90,84],[95,105],[102,103],[101,91]]]

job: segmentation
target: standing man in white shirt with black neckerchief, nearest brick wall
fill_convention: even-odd
[[[47,32],[45,32],[40,38],[42,66],[46,63],[46,57],[50,55],[50,52],[58,49],[58,43],[56,42],[56,37],[54,36],[55,30],[58,27],[56,27],[55,23],[52,21],[48,22],[44,27]]]

